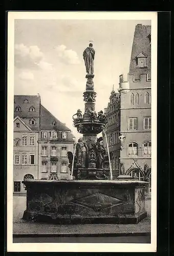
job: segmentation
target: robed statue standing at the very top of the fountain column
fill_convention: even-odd
[[[93,49],[93,44],[90,44],[83,52],[84,64],[86,67],[86,73],[89,75],[94,74],[94,56],[95,50]]]

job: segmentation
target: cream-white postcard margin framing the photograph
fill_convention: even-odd
[[[151,243],[13,243],[13,107],[15,19],[151,20]],[[7,77],[7,251],[155,252],[157,250],[157,12],[8,12]]]

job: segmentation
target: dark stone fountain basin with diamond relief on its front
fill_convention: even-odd
[[[25,180],[23,219],[55,224],[136,224],[147,217],[143,181]]]

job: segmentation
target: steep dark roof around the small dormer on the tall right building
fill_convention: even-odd
[[[132,54],[130,58],[129,74],[134,74],[135,79],[140,77],[140,74],[148,74],[151,77],[151,26],[138,24],[135,27]],[[144,54],[146,57],[147,67],[137,68],[137,56]]]

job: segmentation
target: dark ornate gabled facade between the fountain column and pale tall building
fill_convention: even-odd
[[[104,114],[107,117],[107,126],[104,129],[109,151],[112,153],[111,165],[113,170],[113,178],[119,175],[119,162],[120,162],[120,95],[113,90],[111,92],[110,101],[107,108],[104,109]],[[104,133],[103,144],[107,152],[106,138]]]

